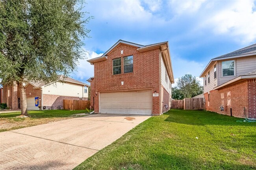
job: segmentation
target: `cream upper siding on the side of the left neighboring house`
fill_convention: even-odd
[[[54,94],[59,96],[85,97],[83,96],[83,86],[73,83],[56,82],[43,87],[43,94]],[[88,97],[88,94],[87,94]]]

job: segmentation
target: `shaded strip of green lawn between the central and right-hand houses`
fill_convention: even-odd
[[[182,123],[186,125],[223,125],[223,126],[249,126],[256,127],[256,123],[237,122],[243,118],[235,118],[227,115],[221,115],[215,112],[205,110],[178,110],[171,109],[165,115],[168,117],[165,121],[173,123]]]

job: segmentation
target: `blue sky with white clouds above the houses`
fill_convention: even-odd
[[[87,0],[85,59],[70,76],[88,83],[86,60],[101,56],[118,40],[142,45],[169,42],[175,83],[199,78],[212,58],[256,43],[256,0]]]

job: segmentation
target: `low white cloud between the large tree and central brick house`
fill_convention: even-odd
[[[94,51],[85,50],[84,59],[79,60],[79,64],[77,67],[77,71],[75,71],[73,74],[71,74],[72,77],[85,82],[88,78],[94,76],[94,66],[91,65],[87,60],[91,58],[96,58],[99,56],[102,56],[102,54],[97,54]]]

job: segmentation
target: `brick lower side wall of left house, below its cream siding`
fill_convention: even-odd
[[[43,94],[43,106],[46,106],[46,109],[63,109],[63,99],[68,100],[79,100],[79,97],[70,97],[70,96],[59,96],[53,94]],[[87,99],[87,98],[86,98]]]

